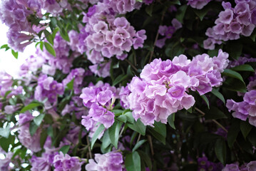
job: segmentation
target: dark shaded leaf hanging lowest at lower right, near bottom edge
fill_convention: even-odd
[[[226,143],[222,138],[217,139],[215,142],[215,154],[218,160],[225,165],[226,162]]]

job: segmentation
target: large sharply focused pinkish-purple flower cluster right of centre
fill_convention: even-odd
[[[203,95],[221,85],[220,72],[227,67],[227,58],[228,54],[220,50],[217,57],[203,54],[192,61],[184,55],[175,56],[173,61],[155,59],[143,68],[140,78],[133,77],[128,85],[133,117],[145,125],[153,125],[155,120],[167,123],[171,113],[194,105],[189,88]]]

